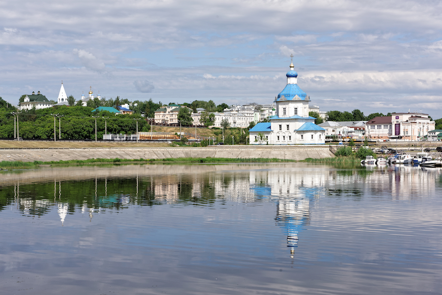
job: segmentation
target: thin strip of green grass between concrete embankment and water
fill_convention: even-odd
[[[159,164],[159,163],[268,163],[268,162],[295,162],[295,160],[281,160],[281,159],[229,159],[229,158],[168,158],[168,159],[88,159],[88,160],[69,160],[69,161],[1,161],[0,168],[2,169],[34,169],[40,165],[51,166],[69,166],[69,165],[87,165],[87,164],[130,164],[130,163],[143,163],[143,164]]]

